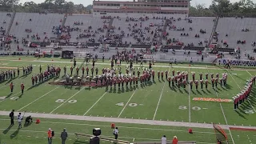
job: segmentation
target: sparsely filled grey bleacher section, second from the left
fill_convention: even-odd
[[[57,38],[53,27],[61,26],[63,18],[64,14],[17,13],[10,34],[19,40],[26,38],[29,42],[49,41],[50,38]],[[32,38],[33,35],[35,38]]]

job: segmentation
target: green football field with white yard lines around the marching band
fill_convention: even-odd
[[[238,110],[234,110],[234,104],[232,101],[232,97],[238,94],[244,88],[244,86],[246,86],[246,81],[252,76],[256,75],[256,70],[254,69],[247,70],[231,68],[231,70],[226,70],[218,66],[202,64],[191,66],[189,64],[178,64],[169,66],[167,63],[155,63],[153,66],[154,71],[168,70],[170,74],[172,70],[175,70],[175,73],[177,73],[177,71],[186,71],[189,73],[190,80],[192,79],[192,73],[195,73],[195,79],[198,80],[199,73],[203,73],[203,78],[205,78],[205,73],[214,73],[214,75],[219,73],[220,77],[222,77],[222,73],[227,73],[227,85],[218,85],[218,88],[213,89],[211,84],[209,84],[208,89],[203,86],[203,89],[201,90],[201,86],[199,84],[198,90],[195,90],[195,86],[193,86],[192,89],[190,89],[190,86],[186,86],[186,88],[181,87],[178,89],[177,86],[169,86],[169,83],[166,81],[165,77],[163,80],[158,80],[156,74],[154,82],[146,83],[142,86],[128,86],[125,87],[124,90],[114,88],[107,90],[106,87],[88,88],[86,86],[56,86],[48,84],[48,82],[62,80],[61,77],[51,78],[47,82],[42,82],[32,86],[31,77],[32,75],[39,73],[40,65],[42,66],[42,70],[46,70],[47,65],[60,66],[61,68],[67,66],[67,73],[70,73],[68,66],[73,65],[73,62],[70,62],[70,60],[60,58],[37,59],[32,57],[22,57],[21,60],[18,60],[18,57],[0,58],[1,70],[10,70],[12,68],[17,68],[17,66],[22,67],[28,65],[34,66],[32,74],[23,76],[21,70],[19,77],[16,77],[10,81],[7,80],[0,84],[0,111],[10,111],[14,109],[15,111],[22,112],[26,110],[27,112],[38,114],[63,114],[71,116],[78,115],[103,118],[130,118],[167,122],[217,123],[221,125],[233,126],[256,126],[255,86],[253,87],[250,101],[244,102],[242,106],[238,108]],[[83,65],[85,65],[84,61],[78,60],[78,67],[82,67]],[[125,73],[126,65],[128,64],[122,64],[123,73]],[[147,64],[144,65],[145,67],[148,67]],[[98,66],[100,73],[102,68],[110,67],[110,62],[102,62],[102,60],[99,60],[96,62],[96,66]],[[91,63],[89,64],[89,67],[91,67]],[[137,69],[137,67],[139,66],[134,64],[134,68]],[[80,73],[82,73],[81,70]],[[61,76],[62,75],[63,70]],[[10,82],[14,82],[13,94],[10,94]],[[21,82],[24,82],[25,85],[24,94],[21,94]],[[6,119],[6,117],[3,117],[1,121],[6,123],[6,126],[8,126],[9,122],[6,122],[6,120],[3,119]],[[52,120],[47,119],[46,121]],[[46,123],[42,124],[46,125]],[[109,126],[110,124],[103,125]],[[6,126],[0,128],[4,129]],[[58,127],[59,124],[56,124],[56,126]],[[79,125],[70,125],[70,129],[75,131],[75,126],[77,126],[79,130]],[[47,126],[44,128],[46,127]],[[151,133],[154,132],[154,126],[148,127],[149,130],[134,130],[134,135],[131,134],[133,136],[130,136],[130,138],[134,138],[138,133],[143,132],[145,132],[145,134],[142,134],[143,137],[141,137],[145,138],[149,136],[147,141],[149,141],[150,138],[161,138],[162,133],[159,133],[158,137],[151,136],[153,135]],[[90,128],[93,128],[93,126],[90,126]],[[150,130],[150,128],[152,128],[153,131]],[[33,130],[33,127],[30,127],[29,129]],[[42,129],[42,127],[38,129]],[[61,128],[59,127],[59,129]],[[162,129],[166,128],[162,127]],[[180,129],[182,128],[175,127],[174,131]],[[47,128],[45,130],[47,130]],[[210,129],[205,129],[205,131],[211,131],[211,133],[214,133],[214,130]],[[186,130],[184,129],[183,132],[185,133]],[[242,142],[242,133],[244,132],[240,131],[241,134],[239,134],[239,131],[237,130],[226,130],[226,133],[230,138],[230,143]],[[130,133],[127,135],[130,135]],[[237,135],[239,135],[239,137]],[[138,136],[140,135],[138,134]],[[190,138],[190,135],[182,136],[181,133],[179,136],[184,138],[184,141],[197,140],[198,137],[202,137],[199,138],[199,142],[215,142],[214,134],[209,134],[207,137],[191,136]],[[250,138],[255,139],[255,134],[251,133]],[[143,141],[143,139],[139,138],[136,140]],[[256,142],[256,140],[251,141],[251,143],[254,142]],[[250,142],[248,141],[248,143]]]

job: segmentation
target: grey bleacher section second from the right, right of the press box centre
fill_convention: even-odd
[[[171,19],[171,23],[166,29],[166,33],[168,33],[168,35],[165,40],[162,40],[162,43],[164,45],[168,45],[170,43],[177,44],[178,42],[183,42],[185,46],[191,43],[193,43],[194,46],[205,46],[210,39],[213,27],[214,18],[191,17],[189,20]],[[200,32],[200,30],[202,31]],[[199,34],[199,38],[195,37],[196,34]],[[170,40],[172,42],[170,42]],[[199,44],[200,42],[202,42],[202,44]]]

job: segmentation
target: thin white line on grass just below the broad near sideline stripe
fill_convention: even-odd
[[[0,121],[10,121],[10,119],[0,119]],[[17,120],[15,120],[17,121]],[[74,125],[74,126],[98,126],[98,127],[110,127],[106,125],[93,125],[87,123],[70,123],[70,122],[50,122],[50,121],[42,121],[41,123],[48,123],[48,124],[60,124],[60,125]],[[133,129],[133,130],[159,130],[159,131],[175,131],[175,132],[187,132],[187,130],[174,130],[174,129],[159,129],[159,128],[149,128],[149,127],[137,127],[137,126],[118,126],[119,128],[123,129]],[[193,131],[194,134],[215,134],[214,132],[204,132],[204,131]]]

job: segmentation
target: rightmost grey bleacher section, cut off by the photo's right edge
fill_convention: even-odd
[[[221,47],[226,47],[224,45],[226,42],[229,48],[237,49],[240,47],[241,50],[251,50],[252,42],[256,41],[255,23],[256,18],[219,18],[216,29],[218,36],[215,35],[213,42],[216,42],[218,37],[218,42],[216,43]],[[246,42],[239,42],[238,44],[238,40],[245,40]]]

